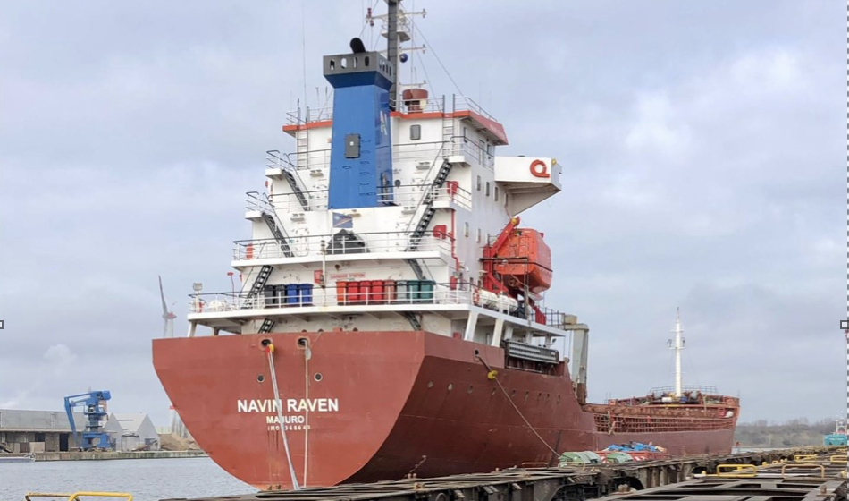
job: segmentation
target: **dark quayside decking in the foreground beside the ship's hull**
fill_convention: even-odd
[[[807,447],[568,468],[534,468],[532,463],[483,474],[411,476],[196,501],[845,501],[847,456],[845,449],[839,451]]]

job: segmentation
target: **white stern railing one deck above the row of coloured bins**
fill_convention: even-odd
[[[337,234],[338,237],[339,234]],[[289,249],[296,258],[315,256],[321,259],[322,254],[372,254],[381,252],[403,252],[410,245],[411,232],[387,232],[372,234],[356,234],[352,240],[337,238],[333,235],[290,236],[287,239]],[[235,242],[233,259],[283,259],[289,258],[281,249],[279,242],[274,239],[241,240]],[[425,234],[418,239],[417,251],[441,251],[450,254],[451,242],[447,236],[435,237]]]

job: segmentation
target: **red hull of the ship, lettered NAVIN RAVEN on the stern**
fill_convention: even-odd
[[[298,342],[303,338],[307,343]],[[443,335],[346,331],[154,341],[156,373],[198,445],[256,488],[292,487],[265,339],[274,345],[301,486],[553,463],[549,446],[600,450],[633,440],[682,455],[728,453],[733,442],[736,403],[710,418],[680,419],[699,421],[701,429],[600,431],[599,411],[577,402],[567,375],[505,368],[500,348]],[[498,370],[501,386],[487,378],[478,355]]]

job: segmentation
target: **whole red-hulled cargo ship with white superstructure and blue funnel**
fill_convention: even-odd
[[[632,441],[730,452],[739,402],[713,388],[587,403],[590,329],[551,308],[551,249],[520,219],[561,191],[561,165],[499,155],[505,128],[472,99],[400,81],[416,13],[387,4],[369,11],[386,50],[324,56],[332,106],[288,114],[294,151],[267,152],[234,242],[241,286],[195,284],[187,335],[153,342],[198,445],[260,489]]]

